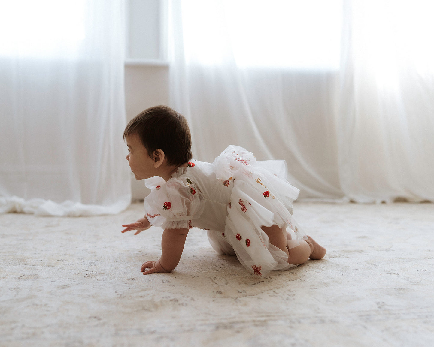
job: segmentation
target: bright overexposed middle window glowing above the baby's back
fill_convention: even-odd
[[[342,0],[186,1],[184,45],[191,59],[215,64],[230,54],[243,67],[338,69]],[[188,54],[188,51],[187,51]]]

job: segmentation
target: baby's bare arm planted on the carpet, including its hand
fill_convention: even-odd
[[[157,261],[144,262],[141,265],[143,275],[171,272],[176,268],[184,250],[187,234],[188,229],[164,229],[161,237],[161,257]]]

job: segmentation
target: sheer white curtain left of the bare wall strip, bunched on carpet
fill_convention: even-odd
[[[128,206],[124,26],[121,0],[2,2],[0,212]]]

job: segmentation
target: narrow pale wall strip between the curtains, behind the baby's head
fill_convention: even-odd
[[[165,0],[125,0],[125,107],[127,121],[148,107],[168,105]],[[125,160],[126,164],[126,160]],[[132,199],[148,195],[145,181],[132,174]]]

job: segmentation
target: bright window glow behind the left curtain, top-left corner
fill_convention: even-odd
[[[11,0],[0,5],[0,56],[71,55],[85,38],[85,0]]]

